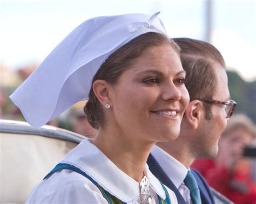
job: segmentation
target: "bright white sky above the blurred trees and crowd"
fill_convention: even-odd
[[[160,11],[170,37],[206,39],[206,0],[0,0],[0,63],[41,62],[84,20]],[[256,79],[256,0],[212,0],[211,41],[228,69]]]

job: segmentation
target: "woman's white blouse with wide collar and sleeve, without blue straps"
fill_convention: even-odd
[[[60,163],[78,167],[90,175],[107,192],[127,203],[137,203],[139,182],[129,177],[112,163],[91,140],[84,139],[71,150]],[[144,174],[149,179],[152,203],[158,203],[157,194],[165,199],[160,182],[146,165]],[[167,188],[171,203],[178,203],[176,195]],[[79,173],[62,170],[41,181],[32,191],[26,203],[107,203],[99,189]]]

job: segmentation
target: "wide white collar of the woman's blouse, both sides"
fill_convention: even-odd
[[[68,163],[78,167],[90,175],[107,192],[124,202],[131,202],[134,199],[138,199],[139,182],[119,170],[91,141],[91,139],[84,139],[60,163]],[[149,171],[147,165],[145,165],[144,173],[147,179],[149,179],[152,189],[161,198],[165,199],[163,187],[159,180]]]

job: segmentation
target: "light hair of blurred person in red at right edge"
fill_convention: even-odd
[[[228,133],[233,132],[235,130],[242,129],[246,131],[252,137],[256,137],[256,129],[254,123],[244,114],[235,114],[233,115],[225,128],[225,130],[221,133],[221,137],[226,137]]]

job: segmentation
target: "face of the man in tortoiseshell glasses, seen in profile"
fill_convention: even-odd
[[[215,74],[217,78],[217,86],[215,87],[215,94],[213,100],[227,101],[230,99],[230,92],[227,86],[227,74],[225,69],[219,64],[215,64]],[[205,117],[199,123],[198,135],[198,155],[203,158],[215,157],[218,153],[218,141],[221,132],[226,128],[227,118],[224,105],[211,105],[212,117],[206,119]]]

